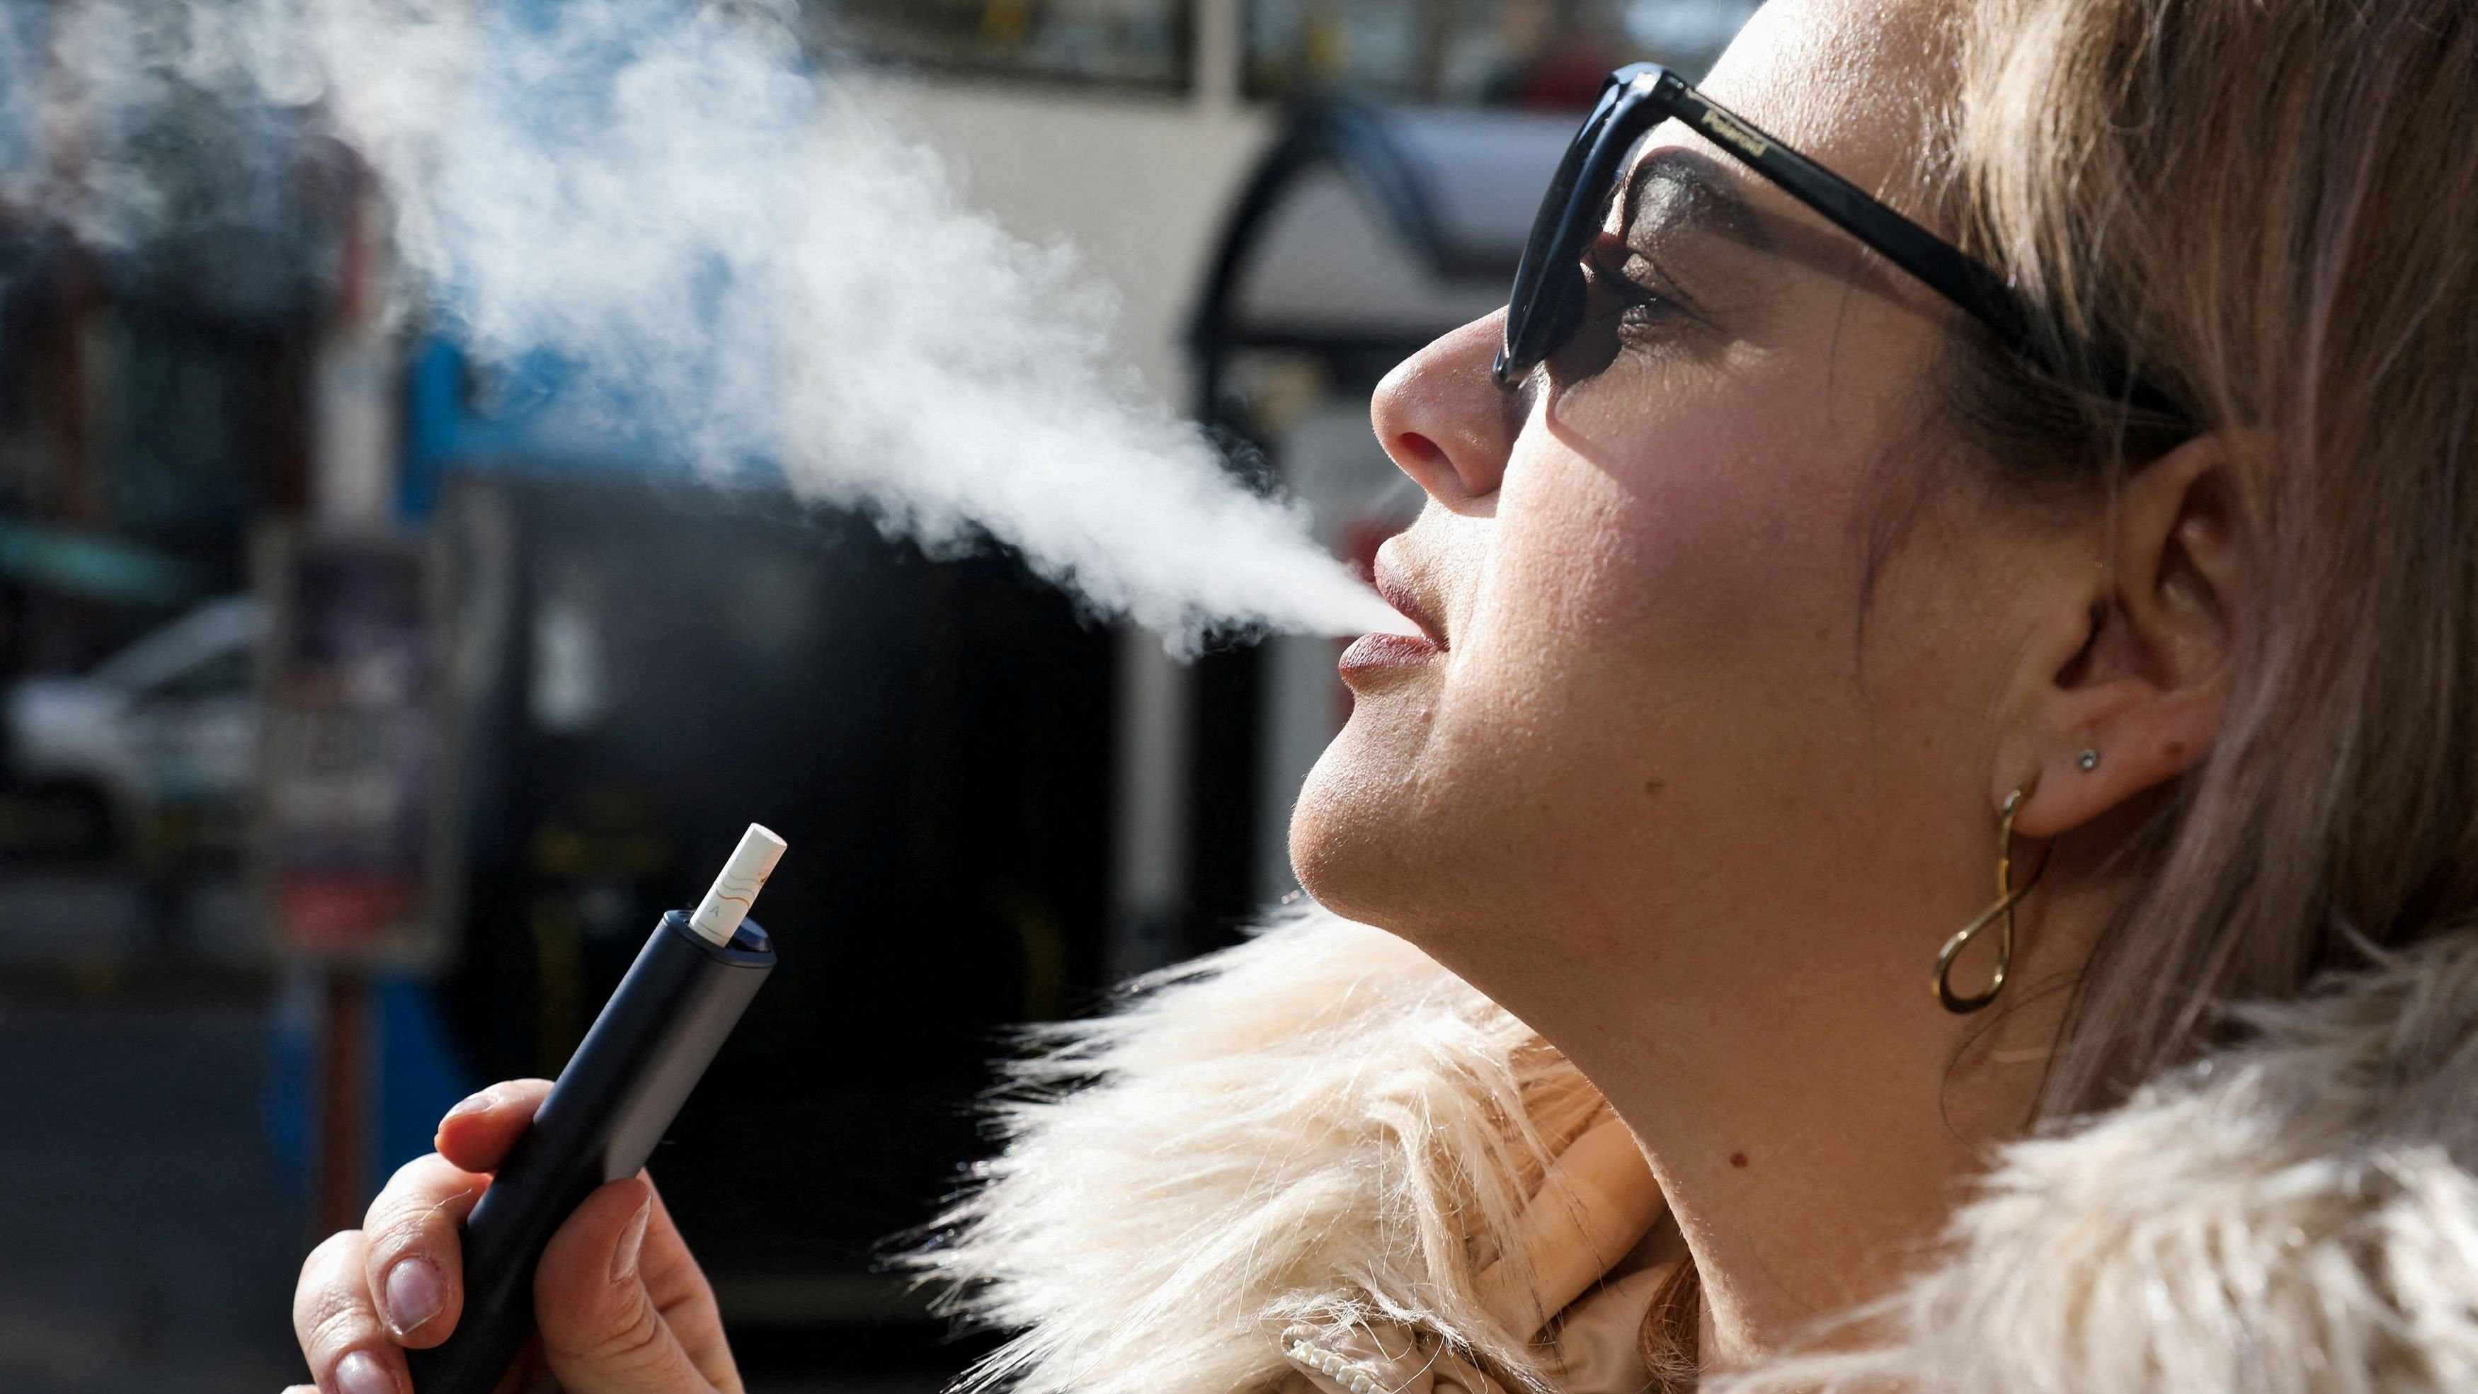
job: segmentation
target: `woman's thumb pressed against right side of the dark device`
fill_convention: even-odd
[[[587,1196],[543,1250],[533,1312],[543,1327],[543,1357],[567,1394],[711,1389],[637,1273],[652,1221],[654,1186],[627,1176]]]

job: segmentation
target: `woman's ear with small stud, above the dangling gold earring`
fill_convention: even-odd
[[[2233,485],[2260,448],[2248,433],[2198,436],[2131,473],[2094,522],[2091,584],[2059,594],[2025,649],[1997,750],[1997,805],[2039,780],[2015,817],[2025,837],[2082,827],[2210,750],[2245,621]]]

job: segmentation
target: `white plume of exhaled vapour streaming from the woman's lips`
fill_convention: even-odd
[[[1400,629],[1298,515],[1113,361],[1113,302],[966,208],[934,151],[810,67],[793,12],[696,0],[87,0],[89,106],[176,74],[317,102],[384,181],[414,295],[563,411],[731,473],[781,465],[932,550],[1031,567],[1192,646]],[[10,67],[0,62],[0,67]],[[107,178],[79,225],[109,235]]]

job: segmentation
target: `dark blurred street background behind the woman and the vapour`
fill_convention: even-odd
[[[491,0],[473,0],[486,5]],[[112,250],[0,206],[0,1387],[270,1392],[305,1248],[463,1092],[555,1075],[741,827],[783,968],[654,1161],[753,1389],[927,1394],[986,1342],[882,1273],[984,1146],[1009,1023],[1296,886],[1336,644],[1192,664],[1004,555],[929,560],[382,314],[387,210],[300,111],[94,129],[10,0],[0,158],[112,141]],[[1601,77],[1742,0],[808,0],[823,59],[1120,352],[1363,560],[1368,394],[1502,305]],[[738,597],[738,604],[726,604]],[[721,619],[719,619],[721,617]]]

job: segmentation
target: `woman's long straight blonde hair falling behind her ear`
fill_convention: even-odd
[[[2478,909],[2478,12],[2468,0],[1980,0],[1945,223],[2240,431],[2230,703],[2136,837],[2049,1117],[2213,1040],[2230,998]],[[2000,485],[2104,488],[2099,374],[1963,339],[1948,399]]]

